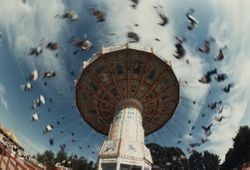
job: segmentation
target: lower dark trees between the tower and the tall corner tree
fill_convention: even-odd
[[[162,147],[150,143],[147,147],[151,151],[154,162],[153,169],[164,170],[218,170],[219,157],[205,151],[203,154],[193,151],[189,159],[180,148]]]

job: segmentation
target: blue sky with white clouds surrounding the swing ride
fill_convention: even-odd
[[[79,76],[82,62],[89,59],[101,47],[124,44],[128,41],[126,33],[134,31],[140,36],[141,47],[153,47],[156,54],[171,61],[172,68],[180,81],[180,103],[174,117],[159,131],[147,137],[147,142],[157,142],[165,146],[178,146],[183,150],[190,143],[204,137],[201,126],[213,123],[209,141],[196,148],[199,151],[208,150],[218,154],[221,159],[232,145],[232,138],[240,125],[249,125],[249,72],[250,49],[250,12],[247,0],[141,0],[137,9],[131,8],[132,2],[115,0],[66,1],[66,0],[2,0],[0,6],[0,122],[11,129],[24,148],[30,152],[42,152],[45,149],[57,151],[61,144],[66,144],[69,153],[77,153],[95,160],[99,145],[105,139],[92,130],[80,117],[75,103],[72,87]],[[162,6],[160,12],[169,17],[165,27],[159,26],[160,18],[153,6]],[[88,12],[90,8],[98,8],[106,13],[106,21],[97,23]],[[194,16],[199,20],[197,28],[189,31],[186,28],[185,13],[194,8]],[[80,16],[76,22],[55,17],[67,10],[74,10]],[[138,24],[135,27],[134,24]],[[115,33],[114,36],[108,34]],[[84,37],[93,42],[89,51],[72,52],[77,48],[68,43],[71,36]],[[184,47],[187,54],[184,59],[173,57],[175,52],[175,36],[185,36]],[[209,37],[215,38],[211,44],[211,52],[202,54],[197,47]],[[155,41],[159,38],[160,41]],[[44,49],[38,57],[27,55],[29,47],[35,47],[43,42],[54,41],[60,45],[59,57],[56,52]],[[44,46],[44,44],[42,44]],[[214,62],[219,48],[224,45],[225,59]],[[186,59],[190,64],[186,63]],[[229,78],[224,82],[204,85],[198,82],[208,70],[217,68],[220,73],[227,73]],[[23,92],[20,85],[26,82],[29,72],[53,70],[57,76],[48,80],[47,86],[39,79],[34,82],[34,89]],[[72,76],[70,73],[74,72]],[[188,81],[188,85],[184,82]],[[230,93],[221,89],[228,83],[234,83]],[[53,102],[31,109],[32,100],[39,95],[53,98]],[[195,100],[196,104],[192,104]],[[214,120],[217,115],[210,110],[209,103],[222,100],[221,113],[225,117],[222,122]],[[50,108],[50,112],[48,112]],[[31,116],[37,112],[41,119],[31,121]],[[205,114],[205,117],[201,115]],[[61,119],[64,117],[64,120]],[[191,120],[191,124],[188,124]],[[57,125],[56,122],[61,124]],[[51,123],[55,126],[51,133],[43,134],[43,128]],[[194,130],[191,127],[195,126]],[[64,134],[60,131],[63,130]],[[192,131],[192,136],[189,133]],[[76,135],[72,136],[71,132]],[[55,144],[49,145],[53,138]],[[72,139],[76,142],[72,143]],[[177,141],[181,140],[181,144]],[[83,150],[79,149],[79,146]],[[90,146],[90,147],[88,147]],[[92,153],[95,151],[95,154]]]

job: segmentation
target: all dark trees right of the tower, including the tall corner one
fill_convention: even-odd
[[[208,151],[203,153],[193,151],[189,158],[176,147],[162,147],[150,143],[153,169],[161,170],[233,170],[242,169],[246,162],[250,164],[250,128],[242,126],[235,138],[233,147],[228,150],[225,160],[220,164],[219,156]]]

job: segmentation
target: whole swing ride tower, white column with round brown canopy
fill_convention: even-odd
[[[102,48],[87,62],[76,84],[83,119],[107,135],[99,170],[151,170],[144,137],[173,116],[179,83],[171,66],[152,49],[131,44]]]

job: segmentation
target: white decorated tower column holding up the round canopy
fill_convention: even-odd
[[[152,158],[144,144],[142,110],[136,99],[117,104],[108,139],[99,152],[100,170],[151,169]]]

